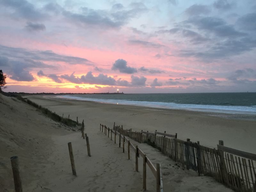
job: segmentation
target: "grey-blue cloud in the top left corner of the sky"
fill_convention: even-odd
[[[26,0],[1,0],[0,5],[13,9],[14,12],[11,14],[11,17],[15,19],[43,20],[48,17],[47,14],[41,12],[41,10]]]

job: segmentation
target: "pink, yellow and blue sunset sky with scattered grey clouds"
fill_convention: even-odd
[[[256,92],[255,0],[0,0],[5,92]]]

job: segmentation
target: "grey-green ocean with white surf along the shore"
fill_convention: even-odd
[[[256,93],[74,94],[66,99],[256,117]]]

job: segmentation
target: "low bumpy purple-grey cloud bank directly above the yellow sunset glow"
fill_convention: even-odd
[[[66,79],[69,82],[76,84],[101,84],[101,85],[115,85],[116,80],[110,76],[99,74],[98,76],[93,76],[92,72],[87,72],[86,75],[82,75],[81,77],[74,76],[74,73],[69,75],[61,75],[60,78]]]

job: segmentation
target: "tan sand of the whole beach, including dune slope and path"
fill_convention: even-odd
[[[135,154],[131,160],[118,144],[100,132],[100,123],[113,123],[133,131],[155,130],[178,133],[200,144],[224,145],[255,153],[255,121],[225,119],[204,113],[152,109],[95,102],[64,100],[52,96],[29,96],[28,99],[49,108],[60,116],[85,122],[91,147],[87,156],[81,132],[67,130],[35,108],[0,95],[0,191],[14,191],[10,157],[19,156],[23,191],[142,191],[142,158],[135,172]],[[15,101],[14,101],[15,100]],[[72,142],[77,177],[72,175],[68,154]],[[135,141],[132,141],[137,145]],[[161,163],[164,191],[232,191],[211,177],[198,177],[183,170],[167,156],[147,144],[138,144],[153,164]],[[2,153],[3,152],[3,153]],[[147,191],[156,191],[156,180],[147,166]]]

